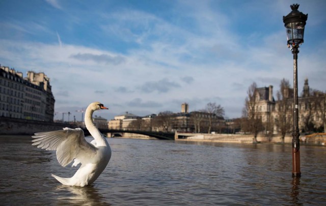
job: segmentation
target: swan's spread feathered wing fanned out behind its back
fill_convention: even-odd
[[[33,145],[45,150],[56,150],[58,162],[62,166],[69,164],[74,158],[82,160],[85,156],[94,156],[97,148],[86,141],[84,131],[80,128],[39,132],[32,136]]]

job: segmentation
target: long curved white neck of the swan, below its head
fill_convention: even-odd
[[[96,141],[96,146],[105,146],[105,139],[103,138],[100,131],[97,129],[97,127],[94,125],[93,122],[93,112],[94,110],[90,107],[87,107],[85,112],[85,126],[88,129],[88,131],[91,133],[91,135],[94,137]]]

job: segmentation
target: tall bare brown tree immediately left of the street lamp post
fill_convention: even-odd
[[[290,83],[289,80],[282,79],[280,91],[277,92],[278,103],[276,105],[277,120],[276,126],[281,133],[281,140],[284,143],[286,133],[292,131],[293,113],[291,112]]]

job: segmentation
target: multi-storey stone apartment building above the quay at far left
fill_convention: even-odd
[[[55,98],[44,73],[21,72],[0,66],[0,115],[53,122]]]

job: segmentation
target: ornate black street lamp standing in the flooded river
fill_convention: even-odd
[[[283,16],[286,28],[287,45],[293,53],[293,133],[292,133],[292,176],[301,176],[300,171],[300,133],[298,128],[298,101],[297,101],[297,54],[299,45],[304,43],[304,31],[308,14],[297,9],[298,4],[292,4],[292,11]]]

